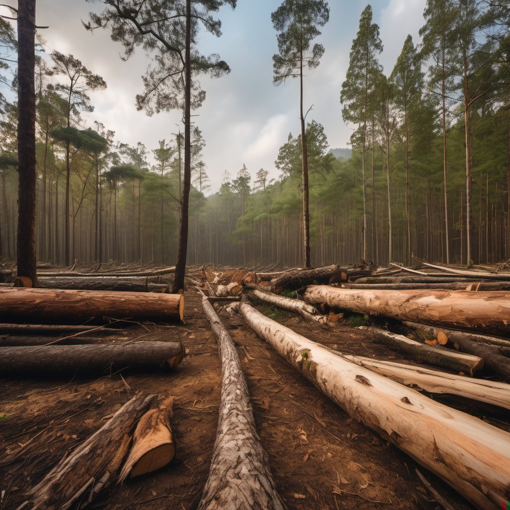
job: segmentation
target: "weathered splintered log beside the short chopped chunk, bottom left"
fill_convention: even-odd
[[[156,395],[139,393],[125,403],[29,492],[29,508],[69,508],[79,500],[90,501],[99,489],[105,489],[122,465],[136,423],[155,399]]]

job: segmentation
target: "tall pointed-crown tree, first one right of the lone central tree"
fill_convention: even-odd
[[[349,68],[342,91],[340,102],[343,105],[342,118],[346,122],[358,124],[359,130],[351,137],[357,140],[361,135],[362,152],[362,180],[363,180],[363,259],[367,259],[367,201],[366,201],[366,171],[365,150],[367,145],[367,124],[372,117],[373,94],[377,75],[381,66],[377,62],[377,55],[382,52],[379,38],[379,27],[372,23],[372,8],[367,5],[360,18],[360,28],[356,38],[352,41],[349,55]],[[373,129],[373,126],[372,126]],[[361,130],[361,133],[359,131]],[[374,190],[372,189],[372,194]],[[373,196],[373,195],[372,195]],[[374,202],[372,201],[372,204]],[[375,211],[372,211],[374,217]]]

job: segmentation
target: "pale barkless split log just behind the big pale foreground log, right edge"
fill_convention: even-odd
[[[363,356],[350,354],[343,354],[343,356],[356,365],[390,377],[414,389],[421,388],[430,393],[460,395],[510,409],[510,385],[505,382],[472,379],[463,375],[448,374],[392,361],[374,360]]]

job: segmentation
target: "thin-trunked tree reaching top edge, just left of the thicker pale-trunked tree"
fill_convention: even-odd
[[[429,68],[430,89],[441,97],[443,121],[443,184],[445,204],[446,263],[450,263],[450,241],[448,223],[448,192],[446,187],[446,113],[448,92],[452,87],[455,65],[453,23],[457,10],[453,0],[427,0],[423,13],[425,24],[420,29],[423,38],[423,57],[432,56]],[[439,88],[439,91],[436,90]]]

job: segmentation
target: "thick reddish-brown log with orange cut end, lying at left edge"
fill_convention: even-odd
[[[184,296],[150,292],[0,289],[0,320],[61,322],[95,317],[182,320]]]

